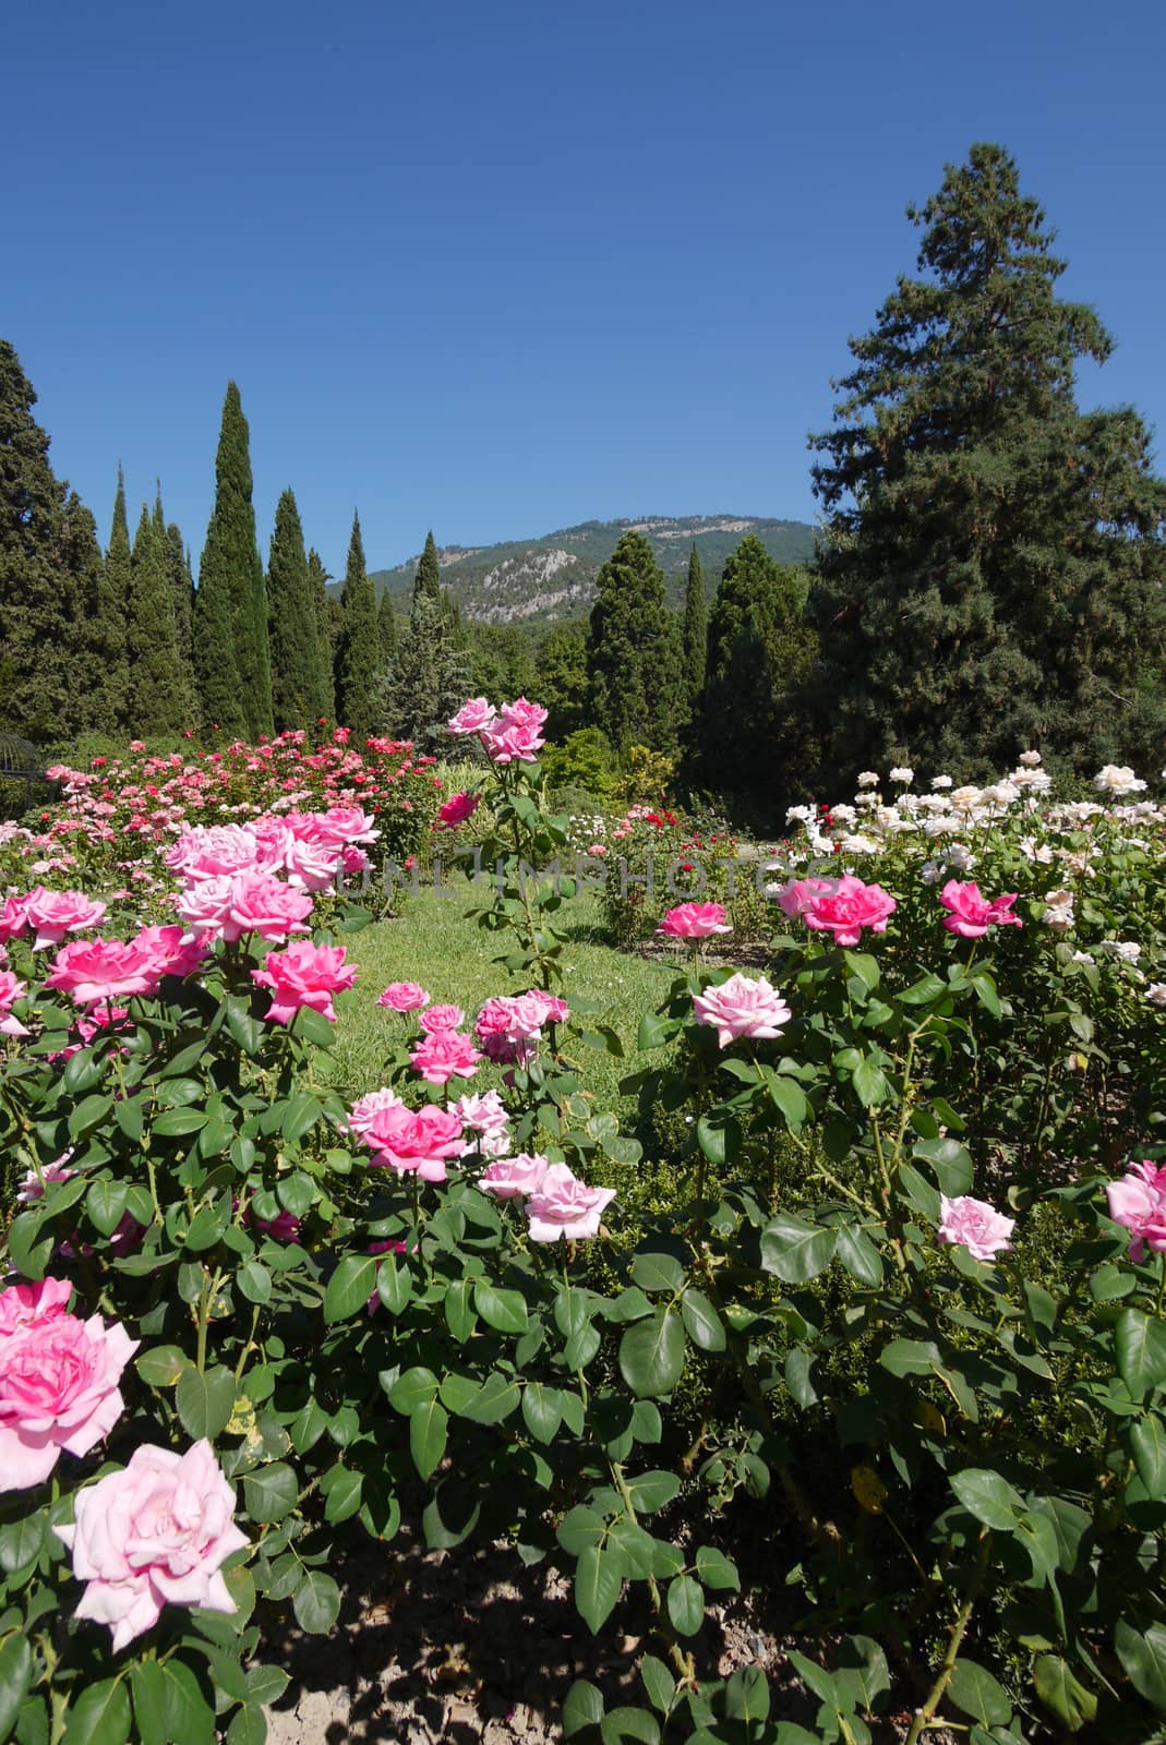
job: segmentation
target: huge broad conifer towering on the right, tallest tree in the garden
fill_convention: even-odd
[[[1166,729],[1166,487],[1131,408],[1082,415],[1096,314],[1056,297],[1037,202],[974,145],[927,204],[918,269],[852,340],[815,492],[812,599],[829,778],[927,759],[957,777],[1040,745],[1143,763]]]

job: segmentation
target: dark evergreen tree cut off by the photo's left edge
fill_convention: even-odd
[[[66,487],[35,405],[14,347],[0,340],[0,719],[54,738],[75,721],[72,654],[86,600],[61,564]]]

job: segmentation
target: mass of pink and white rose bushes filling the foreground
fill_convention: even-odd
[[[571,881],[527,871],[571,841],[543,724],[525,698],[450,722],[482,775],[438,827],[492,820],[497,993],[435,1005],[394,923],[382,1082],[351,1094],[326,1056],[370,914],[344,879],[398,843],[346,745],[292,804],[272,759],[297,749],[255,754],[251,806],[234,749],[229,820],[159,825],[141,782],[99,801],[141,820],[147,876],[117,864],[117,893],[119,845],[91,886],[84,848],[33,876],[44,839],[0,845],[0,1736],[258,1745],[281,1618],[335,1628],[346,1551],[391,1560],[403,1522],[553,1564],[628,1639],[618,1680],[566,1694],[583,1745],[1154,1736],[1145,784],[1108,766],[1054,797],[1028,752],[983,789],[899,766],[888,801],[864,771],[854,806],[799,808],[763,970],[733,965],[731,906],[660,916],[676,977],[613,1113],[590,1063],[623,1044],[571,988]],[[639,810],[628,834],[696,859]],[[658,1112],[667,1157],[621,1131]],[[799,1719],[717,1647],[775,1597]]]

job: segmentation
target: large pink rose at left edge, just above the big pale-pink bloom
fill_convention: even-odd
[[[45,1283],[56,1290],[42,1293],[31,1319],[19,1298],[0,1316],[0,1324],[16,1321],[0,1337],[0,1485],[7,1490],[40,1485],[61,1448],[89,1454],[108,1436],[126,1410],[117,1384],[138,1349],[124,1326],[106,1326],[99,1314],[80,1321],[58,1312],[61,1281]]]

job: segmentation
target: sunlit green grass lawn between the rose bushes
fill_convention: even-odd
[[[490,961],[515,948],[513,935],[485,932],[466,920],[463,909],[461,895],[456,900],[422,890],[408,899],[405,914],[346,937],[360,981],[356,1005],[340,1016],[330,1057],[330,1078],[344,1096],[361,1096],[384,1082],[384,1045],[400,1037],[405,1024],[396,1012],[377,1007],[377,996],[389,982],[421,982],[433,1000],[463,1007],[468,1021],[490,995],[522,993],[529,986]],[[564,993],[600,1003],[602,1010],[588,1014],[586,1023],[609,1024],[627,1050],[623,1061],[586,1050],[586,1078],[595,1106],[614,1110],[620,1103],[618,1082],[635,1064],[639,1021],[660,1003],[682,958],[677,953],[674,963],[648,961],[604,944],[590,897],[571,906],[566,927]],[[499,1082],[497,1070],[487,1068],[471,1082],[459,1082],[459,1087],[482,1091]]]

